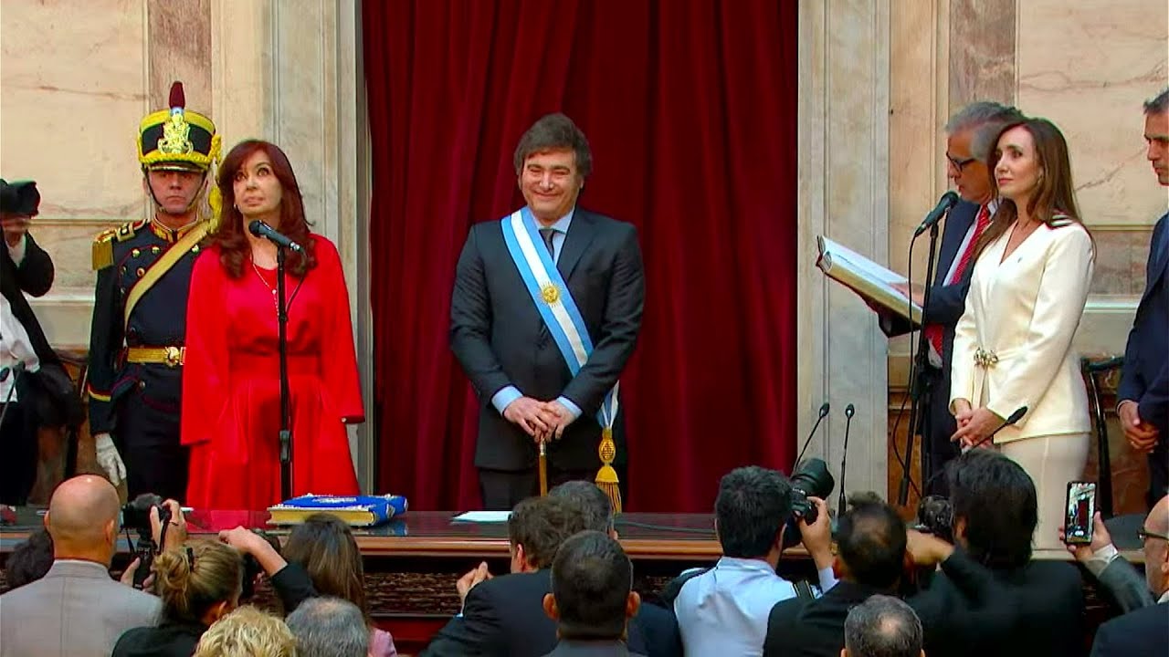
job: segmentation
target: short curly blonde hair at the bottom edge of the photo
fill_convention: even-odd
[[[296,637],[284,621],[240,607],[212,624],[192,657],[296,657]]]

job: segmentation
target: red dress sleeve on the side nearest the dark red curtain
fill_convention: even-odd
[[[361,402],[361,381],[358,376],[358,359],[353,346],[353,323],[350,319],[350,292],[345,285],[345,272],[337,247],[320,235],[317,240],[317,269],[325,286],[326,309],[321,323],[320,344],[328,353],[323,359],[325,389],[336,404],[341,422],[357,424],[365,422],[365,406]]]

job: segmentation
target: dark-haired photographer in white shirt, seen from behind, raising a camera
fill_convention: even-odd
[[[800,520],[801,540],[828,590],[836,585],[828,505],[809,500],[817,518]],[[775,572],[789,518],[791,484],[781,472],[752,465],[722,477],[714,503],[722,558],[705,573],[684,573],[673,601],[686,655],[762,655],[772,607],[796,596],[795,585]]]

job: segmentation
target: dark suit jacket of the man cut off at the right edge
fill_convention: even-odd
[[[1153,229],[1144,293],[1125,347],[1116,399],[1137,402],[1141,420],[1169,434],[1169,214]]]

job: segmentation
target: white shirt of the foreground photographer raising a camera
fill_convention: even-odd
[[[818,575],[822,590],[836,585],[831,568]],[[686,655],[761,656],[772,607],[795,596],[795,586],[768,562],[724,556],[673,601],[682,646]]]

